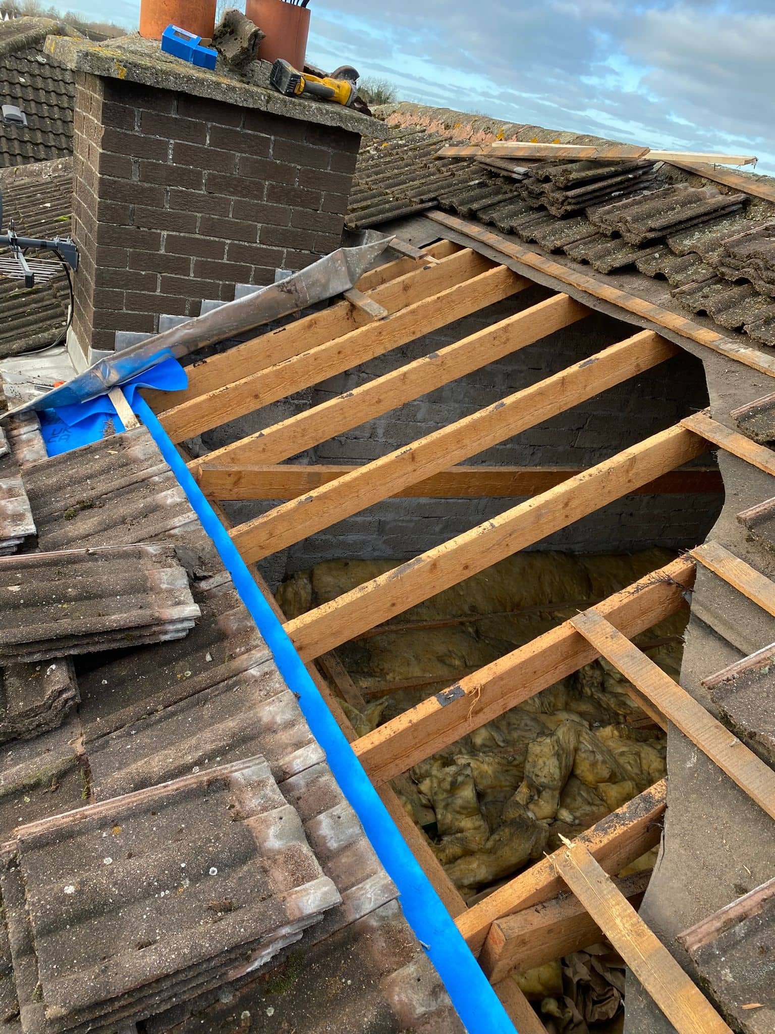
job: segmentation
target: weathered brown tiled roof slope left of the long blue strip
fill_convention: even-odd
[[[17,440],[33,451],[33,421],[10,421],[9,453]],[[83,656],[66,643],[65,659],[3,667],[0,1002],[9,1030],[109,1031],[153,1017],[161,1032],[218,1003],[226,982],[236,996],[264,995],[299,951],[314,951],[338,981],[336,952],[347,944],[359,987],[369,989],[364,1029],[462,1031],[396,886],[148,431],[18,466],[50,552],[6,557],[4,570],[45,572],[59,549],[63,565],[131,553],[114,610],[140,600],[138,589],[152,613],[178,591],[166,576],[152,589],[140,557],[153,555],[173,564],[174,581],[185,574],[199,616],[183,638]],[[128,504],[132,493],[143,507]],[[73,606],[100,592],[99,578],[69,584]],[[36,590],[39,602],[56,606],[49,587]],[[110,613],[97,617],[95,628]],[[341,984],[341,1000],[319,1006],[332,1029],[354,1029]],[[299,1031],[319,1020],[293,1013]]]

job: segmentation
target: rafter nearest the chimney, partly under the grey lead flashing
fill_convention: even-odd
[[[402,258],[398,263],[390,263],[364,274],[359,280],[360,290],[369,290],[370,298],[390,312],[395,312],[429,298],[453,283],[477,276],[493,268],[490,260],[476,254],[470,248],[463,248],[451,252],[438,267],[417,268],[416,263],[412,263],[408,270],[394,277],[392,273],[400,272],[399,267],[405,262],[407,260]],[[373,286],[370,288],[366,285],[361,286],[366,280]],[[340,302],[277,330],[259,334],[227,352],[190,364],[186,367],[188,388],[184,391],[147,391],[144,392],[144,397],[156,413],[164,412],[188,399],[222,388],[236,377],[256,373],[267,366],[282,362],[333,338],[341,337],[371,322],[370,316],[349,302]]]

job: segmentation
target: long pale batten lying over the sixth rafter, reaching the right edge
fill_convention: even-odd
[[[775,819],[775,772],[594,607],[570,624],[751,800]]]

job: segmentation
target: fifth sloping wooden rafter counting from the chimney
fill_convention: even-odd
[[[639,485],[688,462],[706,449],[707,443],[684,427],[653,434],[579,477],[302,614],[286,625],[286,632],[301,657],[313,660],[358,633],[628,495]]]

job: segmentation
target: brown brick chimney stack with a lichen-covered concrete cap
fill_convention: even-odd
[[[361,130],[379,129],[149,40],[110,43],[49,40],[75,73],[72,334],[87,354],[338,247]]]

